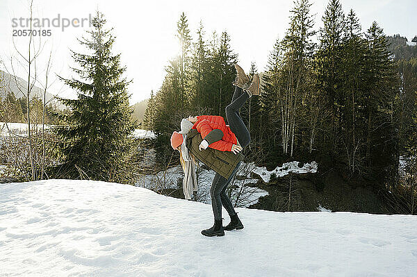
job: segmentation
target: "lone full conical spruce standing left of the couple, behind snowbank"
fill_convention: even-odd
[[[126,67],[120,66],[120,54],[111,52],[115,37],[104,29],[105,23],[104,15],[97,12],[92,30],[87,31],[90,37],[79,40],[89,53],[71,51],[79,79],[61,78],[78,96],[60,99],[71,112],[59,115],[63,125],[55,129],[60,172],[70,178],[117,179],[135,128],[127,94],[130,81],[122,77]]]

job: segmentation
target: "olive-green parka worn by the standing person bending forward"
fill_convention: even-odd
[[[199,144],[202,142],[202,135],[197,129],[191,129],[186,138],[186,146],[193,153],[195,158],[210,167],[215,172],[228,179],[244,156],[242,153],[233,153],[231,151],[220,151],[207,147],[202,151],[199,150]]]

